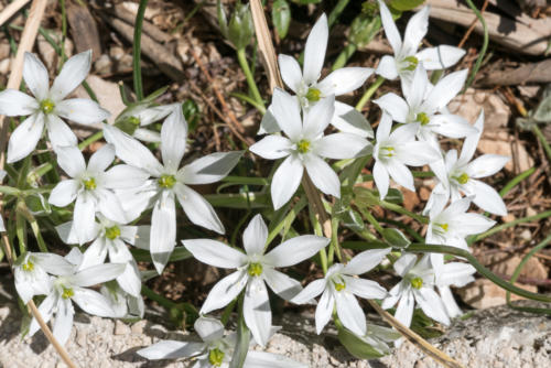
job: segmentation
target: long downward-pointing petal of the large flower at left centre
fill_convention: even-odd
[[[162,193],[153,206],[149,249],[156,272],[163,272],[176,243],[176,204],[173,193]]]

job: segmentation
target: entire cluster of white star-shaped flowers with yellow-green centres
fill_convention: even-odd
[[[446,106],[462,89],[467,71],[451,73],[435,85],[428,69],[453,66],[464,52],[439,46],[418,52],[428,30],[430,8],[414,14],[402,41],[390,11],[379,1],[385,33],[395,56],[385,56],[376,74],[400,78],[404,98],[389,93],[374,102],[382,110],[376,136],[369,122],[357,110],[335,97],[364,85],[371,68],[345,67],[320,79],[328,40],[327,19],[322,15],[309,35],[304,66],[291,56],[280,55],[279,64],[287,86],[295,94],[276,89],[272,104],[261,122],[259,133],[267,134],[250,147],[255,154],[268,160],[282,160],[271,180],[273,208],[283,207],[296,193],[303,175],[321,192],[341,197],[341,180],[325,159],[358,159],[371,155],[374,180],[382,201],[390,178],[414,191],[413,175],[407,166],[429,165],[437,184],[426,204],[430,217],[426,242],[468,250],[466,236],[489,229],[495,221],[484,215],[467,213],[473,202],[479,208],[505,215],[506,207],[495,190],[478,178],[499,171],[508,158],[486,154],[469,162],[482,134],[484,115],[471,125],[451,113]],[[77,139],[65,118],[91,125],[109,113],[87,99],[66,99],[86,77],[90,52],[69,58],[48,89],[44,65],[32,54],[25,55],[23,76],[34,98],[18,90],[0,93],[0,113],[26,116],[12,133],[8,162],[29,156],[39,144],[44,127],[51,148],[57,155],[66,180],[56,184],[50,204],[67,207],[74,203],[73,220],[57,227],[68,245],[90,243],[84,253],[78,247],[65,257],[26,252],[14,264],[15,286],[24,303],[34,295],[46,295],[40,312],[47,322],[56,314],[54,335],[64,344],[71,333],[74,309],[100,316],[143,315],[140,295],[142,275],[128,246],[148,249],[158,273],[162,273],[176,246],[176,199],[195,225],[224,234],[225,228],[212,205],[190,185],[219,182],[236,166],[244,152],[213,153],[183,165],[187,123],[181,105],[155,107],[151,102],[127,109],[118,119],[130,122],[126,132],[104,123],[108,142],[86,164]],[[144,129],[164,119],[160,134]],[[392,122],[399,126],[393,129]],[[332,125],[339,132],[325,134]],[[439,136],[465,138],[460,158],[451,150],[443,152]],[[374,139],[369,142],[368,139]],[[162,163],[137,139],[159,143]],[[123,163],[119,163],[119,161]],[[114,162],[117,162],[114,164]],[[462,197],[464,196],[464,197]],[[133,225],[152,209],[150,226]],[[196,367],[226,367],[236,346],[235,335],[224,335],[224,325],[207,313],[241,297],[242,316],[256,343],[266,346],[274,332],[267,285],[280,297],[295,304],[315,304],[316,331],[320,334],[332,320],[381,353],[396,334],[387,328],[368,326],[357,300],[381,300],[382,307],[398,303],[396,317],[409,326],[415,303],[431,318],[449,324],[461,314],[450,286],[462,286],[473,280],[475,269],[463,262],[445,262],[442,255],[421,258],[401,249],[393,268],[402,281],[389,292],[377,282],[359,275],[388,258],[391,248],[365,250],[345,263],[329,264],[323,279],[301,282],[276,268],[287,268],[325,251],[329,239],[304,235],[267,250],[268,227],[257,215],[244,231],[245,252],[210,239],[182,240],[193,257],[207,264],[235,269],[210,290],[201,309],[195,331],[204,343],[160,342],[139,351],[149,359],[196,357]],[[107,257],[109,256],[109,257]],[[393,259],[395,257],[390,257]],[[106,263],[106,259],[109,262]],[[98,293],[87,286],[104,282]],[[436,288],[436,289],[435,289]],[[37,331],[33,320],[31,334]],[[246,367],[303,367],[287,358],[251,351]]]

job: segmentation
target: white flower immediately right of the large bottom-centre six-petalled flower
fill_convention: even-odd
[[[387,296],[387,291],[377,282],[359,279],[357,275],[379,264],[388,252],[390,248],[366,250],[354,257],[346,266],[333,264],[324,279],[311,282],[291,302],[304,304],[323,293],[315,310],[317,334],[321,334],[323,327],[329,322],[336,305],[337,315],[343,325],[356,335],[365,336],[367,334],[366,316],[354,295],[364,299],[383,299]]]

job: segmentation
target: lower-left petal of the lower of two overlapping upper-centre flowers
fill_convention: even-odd
[[[270,185],[273,209],[281,208],[293,196],[302,180],[304,167],[294,154],[288,156],[273,174]]]

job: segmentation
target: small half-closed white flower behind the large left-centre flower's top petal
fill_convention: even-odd
[[[131,136],[144,142],[161,142],[161,134],[156,131],[145,129],[155,121],[166,118],[171,112],[177,108],[182,108],[182,104],[170,104],[164,106],[153,106],[150,104],[142,104],[132,106],[117,118],[117,121],[130,125]]]

